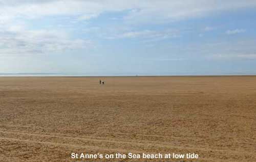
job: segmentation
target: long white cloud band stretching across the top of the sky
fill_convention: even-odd
[[[36,18],[51,15],[73,15],[79,19],[95,18],[104,12],[129,11],[125,20],[132,23],[165,23],[188,17],[207,16],[213,12],[255,8],[256,1],[0,1],[0,20],[13,17]],[[81,16],[82,15],[82,16]]]

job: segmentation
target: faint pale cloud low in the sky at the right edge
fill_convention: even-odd
[[[256,41],[245,40],[216,40],[210,42],[189,42],[188,44],[170,46],[167,51],[182,53],[190,59],[234,60],[256,59]]]

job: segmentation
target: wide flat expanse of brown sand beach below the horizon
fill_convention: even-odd
[[[255,76],[101,79],[0,77],[0,161],[83,161],[71,152],[256,161]]]

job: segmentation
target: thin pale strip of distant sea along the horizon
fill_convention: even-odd
[[[0,73],[1,76],[207,76],[207,75],[256,75],[256,72],[227,73],[113,73],[113,74],[83,74],[83,73]]]

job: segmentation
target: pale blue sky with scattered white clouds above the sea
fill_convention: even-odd
[[[0,0],[0,73],[256,73],[255,0]]]

